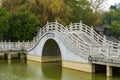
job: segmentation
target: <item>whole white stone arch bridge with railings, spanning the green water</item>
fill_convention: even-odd
[[[1,53],[21,50],[29,60],[62,61],[63,67],[90,73],[96,64],[104,65],[107,76],[112,76],[112,67],[120,67],[120,43],[107,40],[82,22],[68,26],[47,22],[31,42],[0,42]]]

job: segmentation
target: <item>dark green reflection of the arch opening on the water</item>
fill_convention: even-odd
[[[62,77],[61,62],[42,63],[42,73],[45,79],[61,80]]]

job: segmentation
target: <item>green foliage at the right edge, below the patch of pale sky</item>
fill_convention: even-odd
[[[113,36],[120,39],[120,8],[111,6],[110,11],[104,14],[103,24],[109,25]]]

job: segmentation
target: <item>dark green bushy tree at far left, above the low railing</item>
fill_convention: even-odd
[[[25,6],[9,12],[0,9],[0,38],[2,40],[32,40],[36,35],[38,24],[38,18],[30,10],[26,10]]]

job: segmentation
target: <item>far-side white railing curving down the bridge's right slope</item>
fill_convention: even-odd
[[[109,41],[106,39],[106,36],[99,35],[96,31],[94,31],[93,27],[89,27],[82,22],[80,23],[71,23],[68,26],[68,30],[71,32],[79,31],[81,33],[85,33],[88,37],[92,38],[94,41],[99,43],[100,45],[117,45],[118,43]]]

